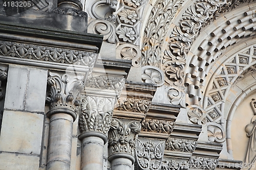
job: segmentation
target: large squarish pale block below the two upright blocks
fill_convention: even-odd
[[[0,151],[39,155],[43,125],[44,115],[42,114],[5,110],[0,135]]]

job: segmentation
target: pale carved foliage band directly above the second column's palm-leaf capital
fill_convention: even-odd
[[[97,88],[97,89],[110,89],[121,92],[125,83],[123,77],[114,77],[107,75],[90,74],[85,87]]]

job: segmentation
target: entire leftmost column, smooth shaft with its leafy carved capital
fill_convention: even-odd
[[[59,72],[49,72],[49,95],[47,102],[50,110],[48,162],[47,169],[70,169],[73,122],[76,119],[77,99],[83,88],[83,76],[71,76]]]

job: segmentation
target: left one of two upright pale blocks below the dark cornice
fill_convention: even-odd
[[[10,65],[7,78],[5,108],[23,110],[28,68]]]

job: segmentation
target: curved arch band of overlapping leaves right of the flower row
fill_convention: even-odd
[[[183,2],[183,0],[166,0],[164,2],[158,0],[154,4],[150,16],[148,16],[143,35],[142,66],[152,65],[161,67],[162,45],[160,44],[164,42],[174,15]],[[163,62],[165,61],[163,60]]]

